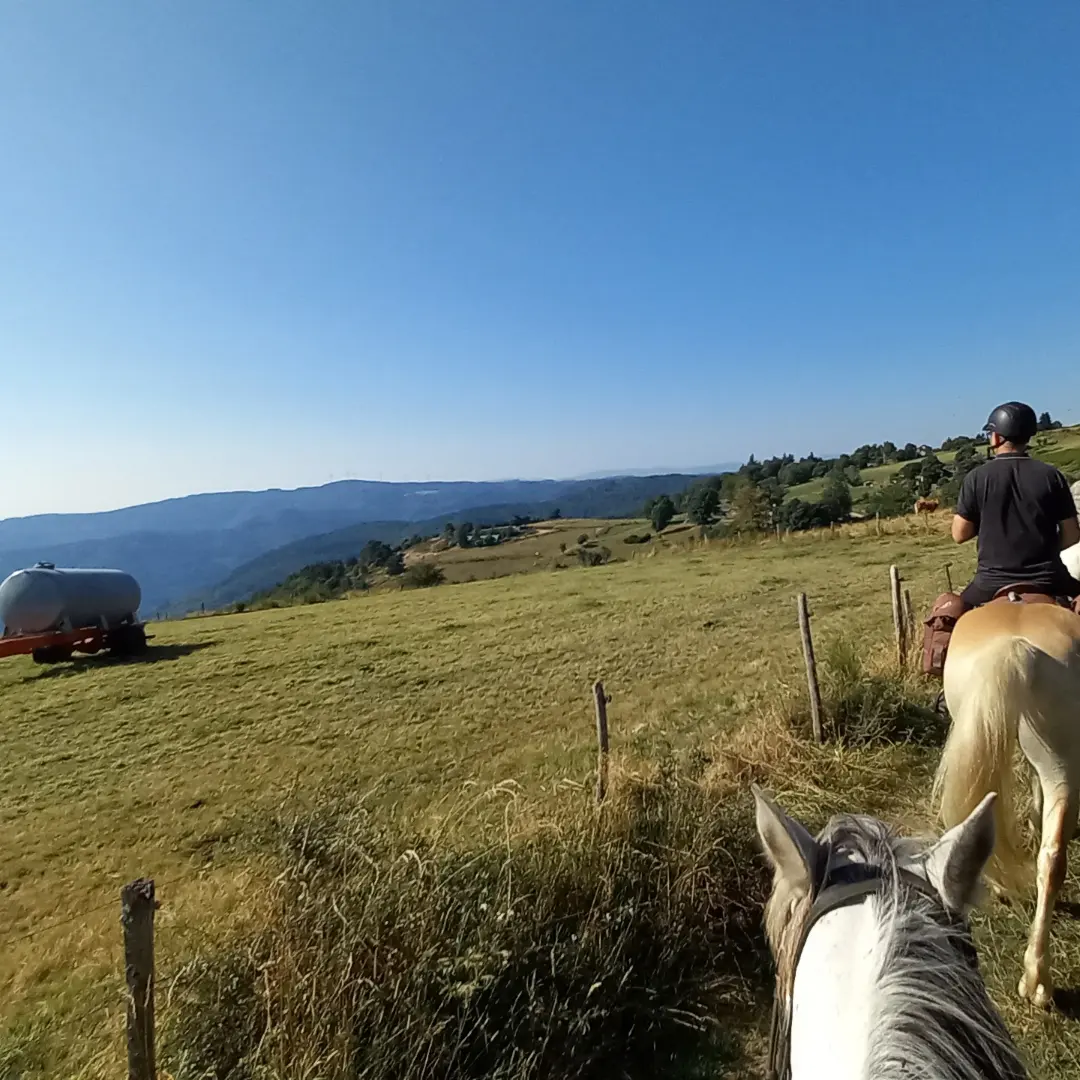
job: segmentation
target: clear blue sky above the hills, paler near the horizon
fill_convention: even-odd
[[[1080,5],[0,0],[0,517],[1080,421]]]

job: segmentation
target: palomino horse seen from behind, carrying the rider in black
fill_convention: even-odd
[[[1017,743],[1032,772],[1038,901],[1020,995],[1045,1008],[1053,998],[1050,923],[1080,797],[1080,617],[1053,603],[1009,600],[967,611],[953,631],[942,681],[953,723],[935,801],[949,827],[987,792],[998,793],[987,878],[1005,895],[1022,889],[1030,868],[1014,810]]]

